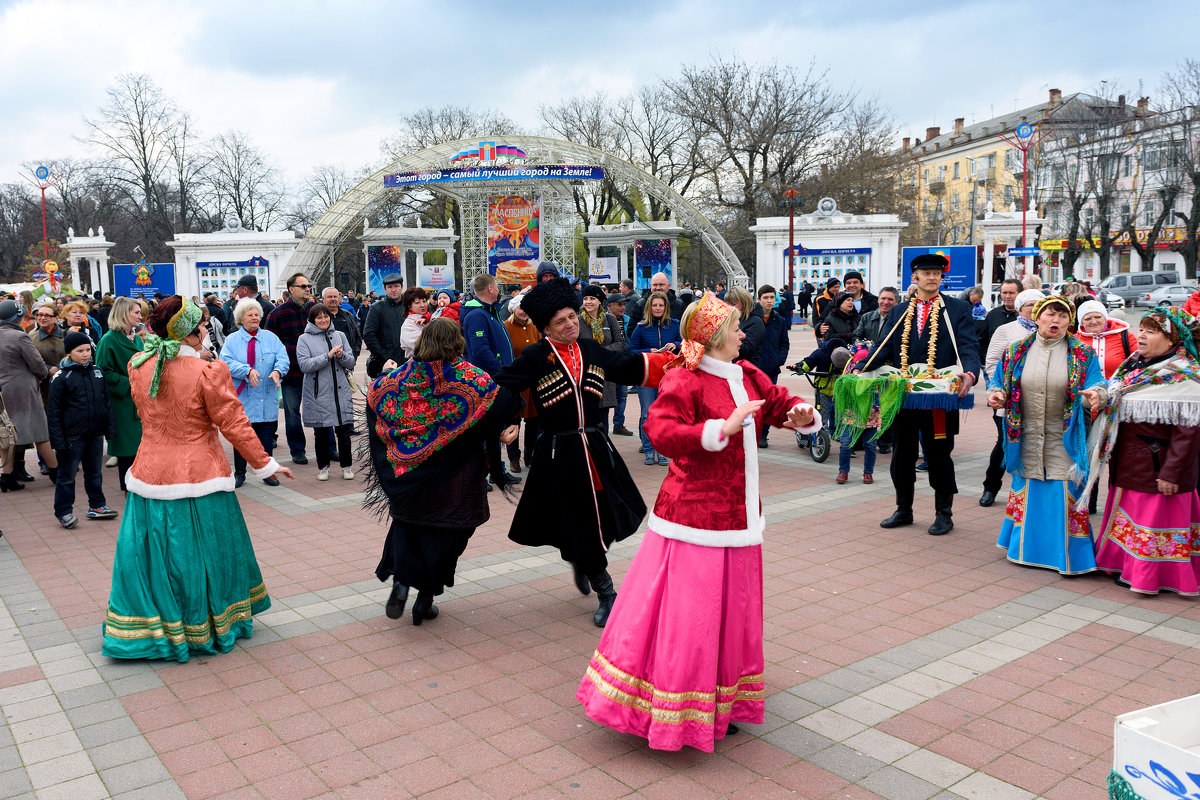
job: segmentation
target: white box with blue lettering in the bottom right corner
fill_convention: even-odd
[[[1112,769],[1145,800],[1200,799],[1200,694],[1122,714]]]

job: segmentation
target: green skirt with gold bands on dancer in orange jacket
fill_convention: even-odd
[[[187,661],[228,652],[271,607],[233,492],[152,500],[130,492],[113,559],[103,654]]]

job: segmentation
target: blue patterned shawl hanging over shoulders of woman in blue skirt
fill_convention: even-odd
[[[1024,318],[1022,318],[1024,319]],[[1004,401],[1004,469],[1013,475],[1025,475],[1021,464],[1021,373],[1037,335],[1027,336],[1008,348],[1000,359]],[[1073,335],[1067,336],[1067,399],[1063,402],[1062,427],[1067,455],[1081,482],[1087,475],[1087,417],[1079,393],[1087,389],[1087,375],[1096,363],[1096,353]],[[1097,367],[1098,368],[1098,367]],[[1085,495],[1086,497],[1086,495]]]

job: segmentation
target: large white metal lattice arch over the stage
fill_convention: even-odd
[[[618,158],[611,154],[588,148],[587,145],[565,142],[563,139],[550,139],[545,137],[529,136],[504,136],[492,137],[503,140],[505,144],[520,148],[529,156],[532,164],[595,164],[605,168],[606,174],[617,182],[637,186],[643,192],[661,200],[674,215],[676,221],[684,229],[695,230],[696,236],[708,247],[725,270],[732,285],[748,287],[750,278],[738,260],[733,248],[728,246],[716,227],[708,221],[686,198],[676,192],[671,186],[649,174],[644,169]],[[360,184],[350,188],[334,205],[329,207],[322,217],[305,234],[300,247],[288,263],[287,272],[304,272],[312,277],[322,269],[322,263],[332,259],[332,253],[338,245],[362,229],[362,218],[373,205],[376,205],[389,191],[383,185],[385,175],[404,172],[418,172],[430,169],[446,169],[451,167],[450,158],[461,150],[478,145],[479,137],[446,142],[426,148],[419,152],[397,158],[386,167],[376,170]],[[558,191],[570,194],[570,186],[559,181],[562,186]],[[457,185],[436,184],[426,188],[462,198],[468,190]],[[648,224],[653,225],[653,222]],[[463,242],[466,247],[466,242]],[[473,276],[464,275],[464,279]]]

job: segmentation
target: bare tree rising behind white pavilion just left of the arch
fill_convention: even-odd
[[[208,152],[205,178],[214,216],[224,219],[232,215],[257,230],[275,224],[283,205],[283,187],[266,155],[241,131],[215,137]]]

